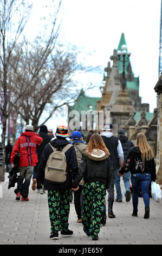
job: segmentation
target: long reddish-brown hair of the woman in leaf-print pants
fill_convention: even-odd
[[[98,133],[94,133],[92,136],[90,136],[86,151],[88,153],[92,153],[93,149],[101,149],[105,151],[106,154],[110,155],[105,143],[103,142],[102,137]]]

